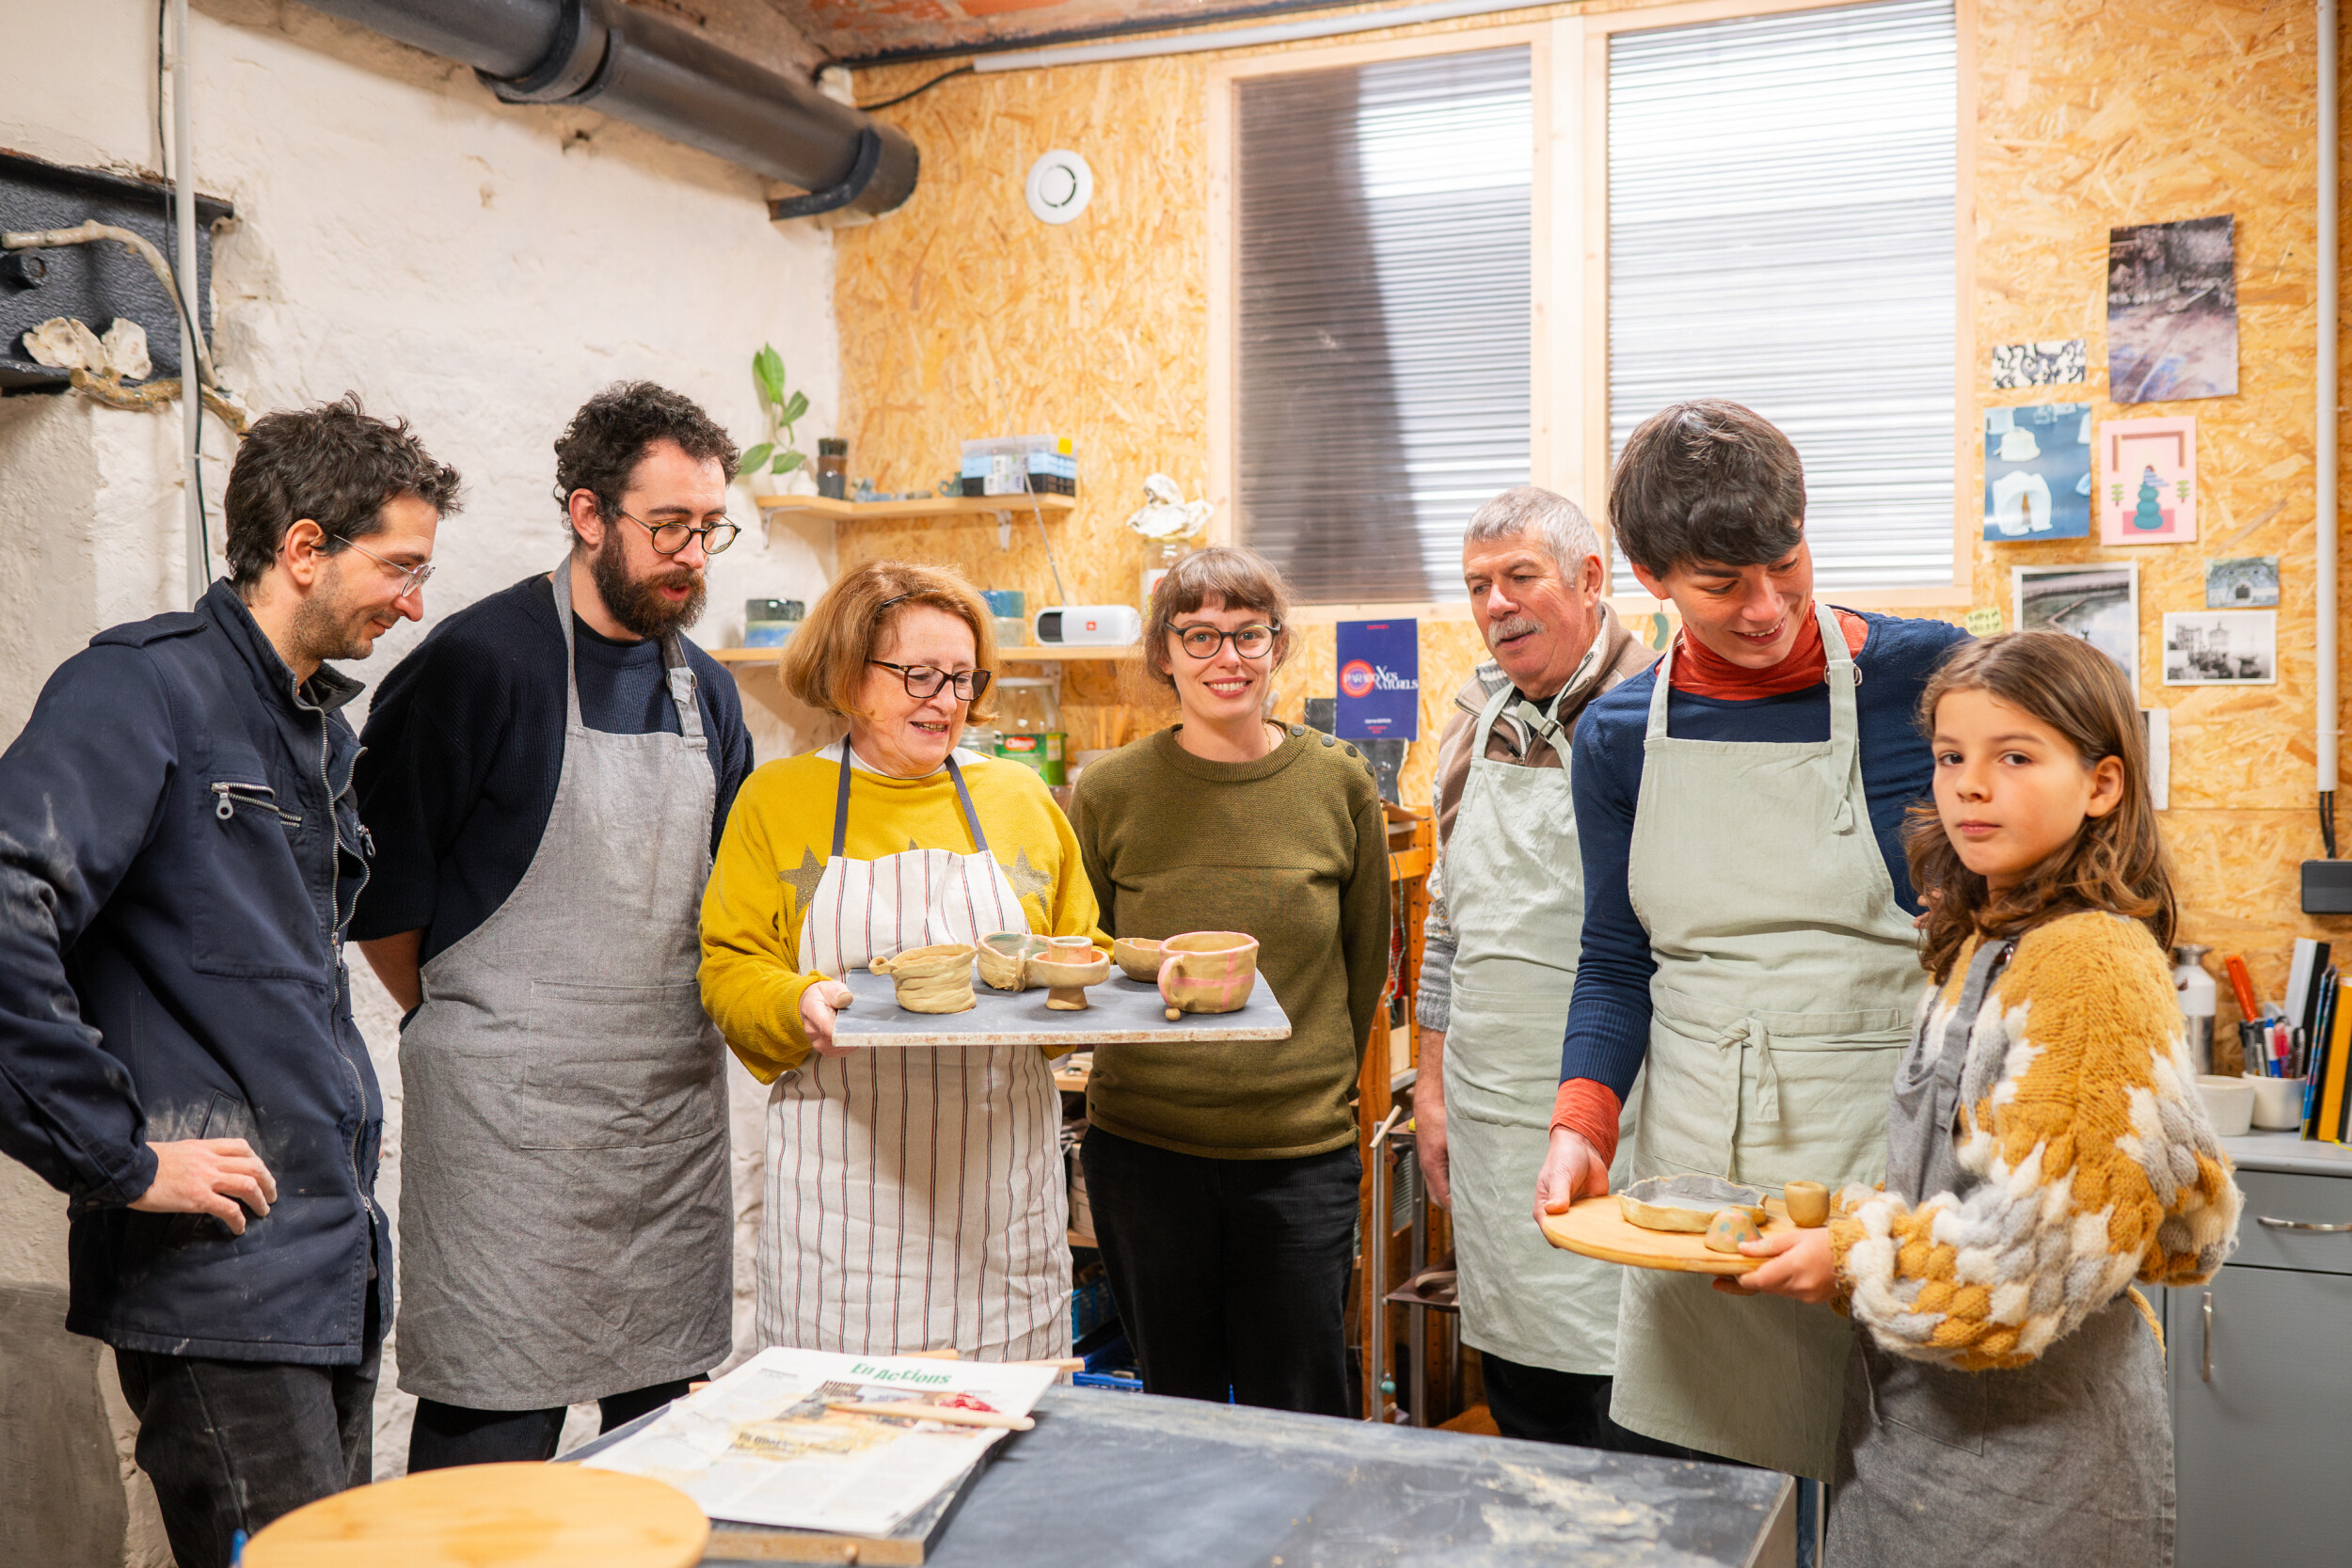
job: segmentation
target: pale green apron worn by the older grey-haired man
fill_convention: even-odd
[[[1573,684],[1573,682],[1571,682]],[[1562,1373],[1616,1368],[1618,1272],[1564,1253],[1526,1213],[1550,1147],[1559,1037],[1585,924],[1583,853],[1569,797],[1569,738],[1534,731],[1559,771],[1486,759],[1486,733],[1517,693],[1489,698],[1470,733],[1470,776],[1446,839],[1454,1013],[1446,1023],[1446,1178],[1465,1345]],[[1557,698],[1552,701],[1557,708]],[[1625,1100],[1632,1145],[1639,1081]],[[1625,1178],[1618,1154],[1613,1180]]]

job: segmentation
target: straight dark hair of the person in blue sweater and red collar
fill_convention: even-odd
[[[1778,425],[1724,397],[1658,409],[1625,437],[1609,527],[1642,571],[1769,567],[1804,538],[1804,463]]]

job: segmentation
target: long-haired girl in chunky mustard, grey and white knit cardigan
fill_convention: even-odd
[[[2239,1192],[2180,1030],[2173,884],[2124,672],[2060,632],[1966,644],[1919,701],[1933,806],[1886,1185],[1750,1241],[1736,1293],[1863,1328],[1830,1561],[2173,1561],[2164,1349],[2133,1279],[2211,1279]]]

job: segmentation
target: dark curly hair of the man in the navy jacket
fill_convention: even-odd
[[[221,510],[228,576],[252,588],[278,559],[287,529],[308,517],[327,555],[383,531],[383,503],[416,496],[440,515],[459,508],[459,477],[433,458],[405,418],[374,418],[358,393],[315,409],[266,414],[238,447]]]

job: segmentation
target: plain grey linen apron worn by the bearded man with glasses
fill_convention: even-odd
[[[400,1034],[400,1387],[477,1410],[696,1378],[734,1340],[727,1048],[696,983],[710,743],[675,637],[684,733],[581,722],[569,578],[548,827]]]

